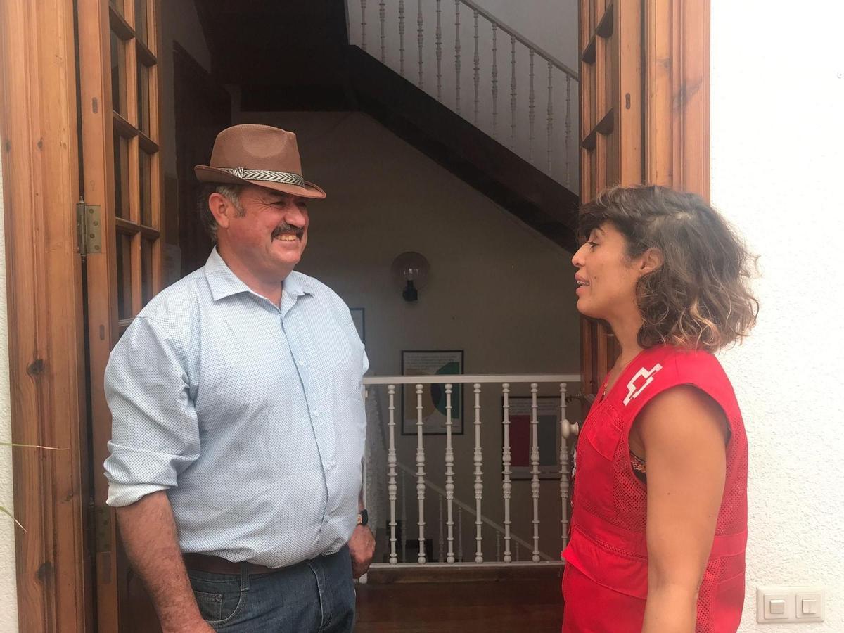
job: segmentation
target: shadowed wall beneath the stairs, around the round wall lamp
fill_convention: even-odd
[[[297,112],[234,118],[297,133],[305,177],[328,193],[310,205],[311,237],[298,269],[335,289],[349,306],[365,308],[371,373],[398,375],[402,349],[463,349],[467,373],[579,374],[570,253],[369,116]],[[421,252],[430,261],[430,283],[416,305],[402,299],[390,277],[393,258],[404,251]],[[473,503],[469,397],[464,397],[466,435],[455,438],[455,494]],[[483,425],[484,513],[500,522],[500,387],[485,394],[482,406],[490,412]],[[427,436],[425,443],[426,470],[442,484],[444,438]],[[413,436],[398,438],[401,462],[414,465],[414,452]],[[409,479],[407,491],[415,495]],[[533,531],[529,497],[529,482],[514,484],[513,529],[520,535]],[[559,555],[559,484],[543,482],[540,497],[547,517],[543,549]],[[414,503],[408,501],[412,522]],[[463,519],[469,551],[471,519]]]

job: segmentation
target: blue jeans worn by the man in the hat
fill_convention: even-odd
[[[351,633],[354,582],[349,547],[271,574],[187,570],[199,611],[225,633]]]

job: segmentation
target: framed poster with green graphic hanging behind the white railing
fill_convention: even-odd
[[[457,376],[463,374],[463,349],[405,349],[402,376]],[[402,387],[402,435],[416,435],[419,419],[416,387]],[[446,383],[422,387],[422,432],[446,434]],[[463,386],[452,386],[452,435],[463,435]]]

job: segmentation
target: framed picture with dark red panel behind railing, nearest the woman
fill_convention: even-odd
[[[531,479],[531,428],[533,398],[511,397],[510,403],[510,479]],[[501,398],[503,419],[504,398]],[[560,479],[560,398],[537,398],[537,445],[539,479]],[[504,440],[504,425],[501,425]]]

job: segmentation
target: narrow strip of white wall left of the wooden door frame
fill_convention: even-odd
[[[12,437],[12,415],[8,384],[8,313],[6,311],[6,235],[3,230],[3,169],[0,168],[0,441]],[[14,513],[12,449],[0,446],[0,506]],[[18,598],[14,565],[12,519],[0,513],[0,630],[18,630]]]

